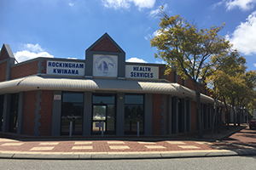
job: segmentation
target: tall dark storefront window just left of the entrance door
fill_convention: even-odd
[[[61,105],[61,134],[67,135],[72,122],[72,134],[83,133],[84,94],[63,93]]]

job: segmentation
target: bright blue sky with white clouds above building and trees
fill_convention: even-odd
[[[0,0],[0,44],[8,43],[18,61],[35,57],[84,59],[85,50],[105,32],[126,60],[154,59],[149,39],[159,29],[160,6],[198,27],[226,26],[230,38],[256,69],[256,0]]]

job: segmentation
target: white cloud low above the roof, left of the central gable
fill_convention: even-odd
[[[38,43],[36,45],[33,45],[32,43],[26,43],[22,44],[21,47],[21,50],[15,53],[15,59],[17,59],[18,62],[38,57],[54,57],[53,55],[45,52]]]

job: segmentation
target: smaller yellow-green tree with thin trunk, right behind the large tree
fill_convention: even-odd
[[[215,62],[213,59],[212,62]],[[212,94],[217,103],[217,99],[224,102],[225,111],[228,115],[226,120],[229,128],[230,123],[230,103],[236,96],[234,95],[234,89],[237,82],[241,82],[241,77],[246,71],[246,59],[234,50],[227,54],[222,59],[218,60],[218,64],[212,67],[207,76],[207,84],[210,87],[214,87]],[[236,78],[232,78],[236,77]],[[238,83],[239,84],[239,83]],[[213,89],[213,88],[212,88]],[[216,104],[215,104],[216,105]]]

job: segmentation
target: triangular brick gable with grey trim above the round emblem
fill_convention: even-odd
[[[108,35],[107,32],[96,42],[94,42],[87,50],[109,53],[125,53],[123,49],[120,48],[119,45],[113,41],[113,39]]]

